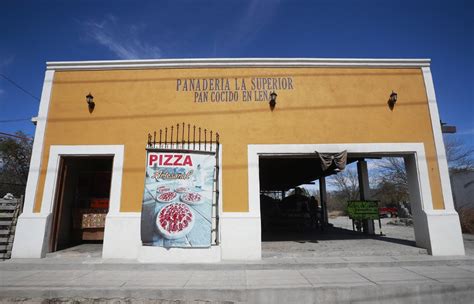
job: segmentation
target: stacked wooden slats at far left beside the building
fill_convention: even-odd
[[[0,259],[2,260],[11,257],[16,223],[22,206],[22,198],[0,199]]]

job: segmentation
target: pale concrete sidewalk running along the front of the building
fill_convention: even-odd
[[[472,303],[473,257],[158,265],[94,257],[0,263],[0,300],[28,303]]]

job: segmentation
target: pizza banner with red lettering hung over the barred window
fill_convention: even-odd
[[[211,246],[214,153],[147,151],[141,238],[145,246]]]

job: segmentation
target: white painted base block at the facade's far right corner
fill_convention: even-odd
[[[456,211],[432,210],[426,213],[430,247],[433,256],[464,255],[461,224]]]

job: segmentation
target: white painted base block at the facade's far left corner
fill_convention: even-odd
[[[22,214],[18,217],[12,258],[44,258],[48,252],[51,215]]]

